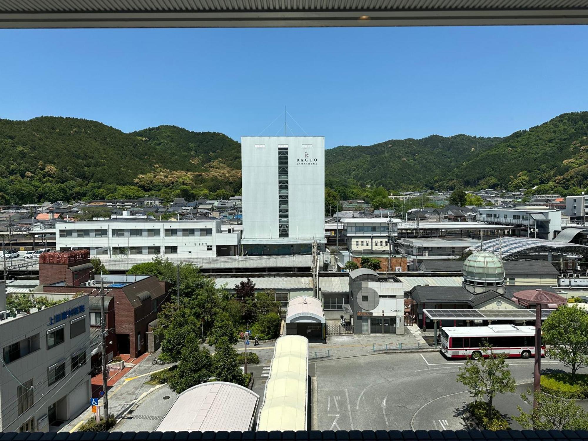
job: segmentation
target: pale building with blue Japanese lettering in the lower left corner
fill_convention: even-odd
[[[0,432],[55,432],[89,405],[88,295],[56,296],[69,299],[0,319]]]

